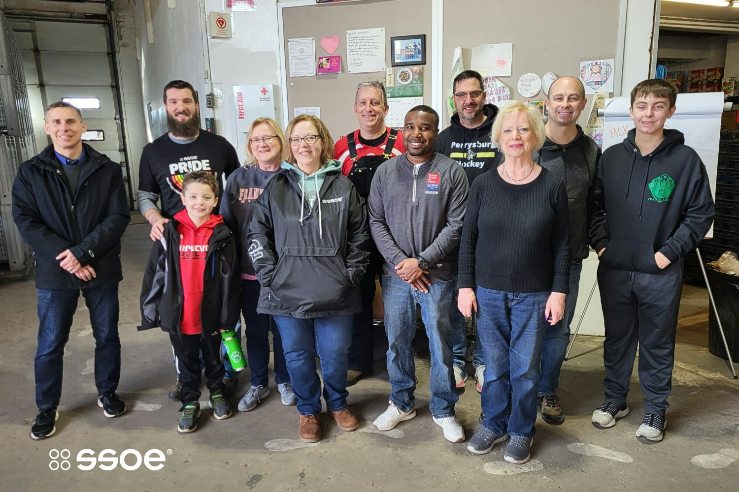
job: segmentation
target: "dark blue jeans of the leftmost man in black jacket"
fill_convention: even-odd
[[[118,283],[84,288],[82,295],[95,337],[95,387],[102,395],[118,389],[120,380]],[[76,289],[38,289],[38,348],[33,359],[38,409],[59,405],[64,345],[69,340],[79,297]]]

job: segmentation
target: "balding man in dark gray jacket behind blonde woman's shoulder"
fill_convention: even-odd
[[[547,139],[539,153],[534,153],[542,167],[565,182],[570,208],[570,294],[565,300],[565,316],[548,327],[542,347],[542,372],[539,377],[539,407],[542,420],[553,426],[565,421],[556,389],[559,371],[570,342],[570,323],[575,315],[582,260],[588,257],[588,190],[596,177],[601,150],[583,133],[577,119],[585,109],[585,88],[576,77],[559,77],[549,88],[545,101],[549,119]]]

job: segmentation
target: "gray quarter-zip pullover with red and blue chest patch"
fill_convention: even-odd
[[[440,153],[418,165],[403,154],[378,167],[367,209],[384,273],[395,275],[398,263],[420,256],[431,282],[454,279],[468,193],[463,168]]]

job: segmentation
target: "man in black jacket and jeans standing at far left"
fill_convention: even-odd
[[[126,412],[115,394],[120,379],[120,237],[131,220],[123,173],[82,143],[86,125],[78,108],[53,103],[44,126],[53,144],[21,164],[13,183],[13,219],[34,250],[38,290],[33,439],[56,431],[64,345],[80,291],[95,336],[98,406],[106,417]]]

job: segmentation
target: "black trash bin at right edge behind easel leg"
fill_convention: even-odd
[[[711,284],[713,299],[716,302],[718,316],[729,345],[729,353],[733,361],[739,361],[739,277],[722,273],[710,266],[706,266],[706,276]],[[713,309],[708,316],[708,350],[715,356],[728,359],[726,348],[723,347],[721,331]]]

